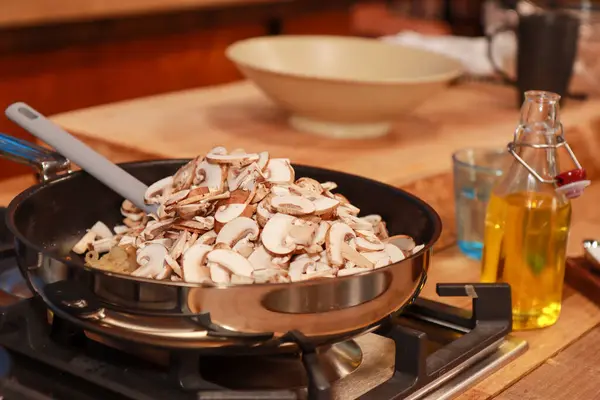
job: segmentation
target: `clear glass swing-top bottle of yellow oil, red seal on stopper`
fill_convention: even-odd
[[[564,140],[559,99],[550,92],[525,93],[521,120],[508,145],[514,160],[492,191],[486,213],[481,280],[511,286],[514,330],[546,327],[558,320],[571,222],[569,198],[589,184]],[[561,148],[571,156],[575,170],[560,174]],[[577,178],[568,181],[572,176]]]

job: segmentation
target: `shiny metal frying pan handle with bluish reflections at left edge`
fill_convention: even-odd
[[[33,168],[44,183],[71,171],[71,162],[55,151],[0,133],[0,156]]]

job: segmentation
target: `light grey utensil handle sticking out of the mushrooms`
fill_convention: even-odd
[[[25,103],[14,103],[6,109],[6,116],[38,139],[54,147],[60,154],[79,165],[87,173],[130,200],[147,212],[156,207],[144,202],[148,188],[137,178],[98,154],[80,140],[54,124]]]

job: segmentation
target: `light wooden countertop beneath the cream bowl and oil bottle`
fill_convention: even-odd
[[[447,247],[454,241],[450,155],[465,146],[503,146],[518,111],[512,90],[480,84],[447,90],[398,121],[392,135],[373,141],[335,141],[294,132],[285,113],[252,85],[241,82],[115,103],[54,116],[54,120],[108,157],[130,160],[189,157],[223,144],[267,149],[295,162],[370,176],[412,191],[430,202],[444,220]],[[600,101],[568,103],[563,113],[567,139],[593,177],[600,171]],[[6,201],[23,182],[2,186]],[[581,253],[584,237],[600,238],[600,187],[592,185],[573,202],[569,255]],[[423,295],[435,297],[437,282],[477,281],[479,263],[451,246],[433,258]],[[465,299],[446,299],[467,306]],[[550,328],[519,332],[530,349],[463,394],[460,399],[600,399],[595,384],[600,361],[600,308],[566,287],[563,311]]]

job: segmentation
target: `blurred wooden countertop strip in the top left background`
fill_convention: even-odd
[[[2,0],[0,27],[292,0]]]

